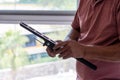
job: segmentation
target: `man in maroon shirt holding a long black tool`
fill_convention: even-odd
[[[98,67],[77,61],[77,80],[120,80],[120,0],[80,0],[72,28],[48,54],[84,58]]]

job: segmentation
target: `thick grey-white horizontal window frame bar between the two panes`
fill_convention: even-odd
[[[80,0],[78,0],[79,3]],[[71,24],[76,11],[0,10],[0,24]]]

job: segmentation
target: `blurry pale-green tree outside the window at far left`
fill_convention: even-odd
[[[16,69],[26,64],[26,52],[22,48],[28,39],[19,32],[9,30],[0,38],[0,68]]]

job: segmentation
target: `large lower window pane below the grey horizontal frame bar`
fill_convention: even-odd
[[[0,26],[0,80],[75,80],[75,59],[51,58],[32,33],[19,25]],[[30,26],[53,40],[63,40],[70,30],[69,25]]]

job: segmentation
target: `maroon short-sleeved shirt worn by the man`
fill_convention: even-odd
[[[78,41],[93,46],[120,42],[120,0],[80,0],[72,27],[80,32]],[[93,71],[77,62],[78,80],[120,80],[120,62],[89,60]]]

